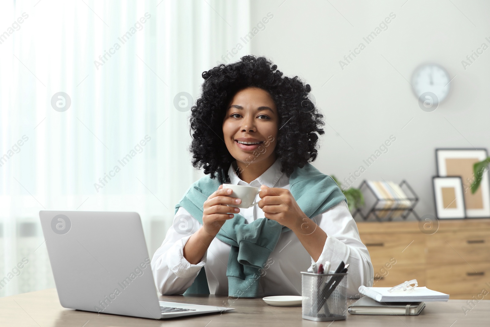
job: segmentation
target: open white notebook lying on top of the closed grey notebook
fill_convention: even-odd
[[[370,297],[377,302],[431,302],[431,301],[447,301],[449,294],[433,291],[425,286],[416,287],[410,291],[394,291],[388,292],[391,287],[366,287],[359,286],[359,292]]]

